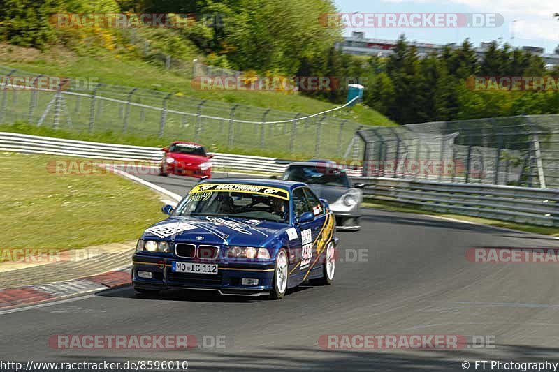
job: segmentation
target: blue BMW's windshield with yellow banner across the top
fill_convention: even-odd
[[[194,186],[174,216],[223,216],[287,223],[289,193],[281,188],[240,184]]]

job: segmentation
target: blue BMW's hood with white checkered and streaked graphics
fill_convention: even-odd
[[[143,239],[230,246],[266,246],[289,225],[256,218],[170,217],[145,230]]]

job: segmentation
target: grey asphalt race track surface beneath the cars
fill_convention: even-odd
[[[143,178],[181,195],[194,184]],[[359,232],[338,233],[342,249],[329,287],[306,286],[270,301],[183,290],[140,297],[128,286],[0,312],[0,359],[187,360],[194,371],[463,371],[463,361],[470,370],[475,360],[559,362],[559,264],[465,257],[476,247],[559,248],[557,239],[375,210],[365,211],[362,225]],[[191,334],[210,341],[193,350],[57,350],[48,345],[57,334]],[[318,341],[328,334],[484,336],[494,343],[326,350]],[[211,347],[216,337],[224,347]]]

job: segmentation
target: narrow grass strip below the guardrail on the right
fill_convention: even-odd
[[[400,202],[386,202],[384,200],[368,199],[365,202],[363,202],[363,207],[375,208],[383,211],[398,211],[404,213],[426,214],[429,216],[453,218],[460,221],[481,223],[482,225],[494,226],[495,228],[507,228],[512,230],[532,232],[535,234],[550,235],[552,237],[559,237],[558,228],[549,228],[546,226],[528,225],[525,223],[492,220],[489,218],[463,216],[460,214],[440,213],[436,211],[429,211],[427,209],[416,209],[414,207],[409,207],[409,205]]]

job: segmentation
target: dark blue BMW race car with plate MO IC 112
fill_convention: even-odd
[[[168,288],[284,297],[312,280],[332,283],[335,217],[303,183],[209,179],[145,230],[133,255],[140,293]]]

